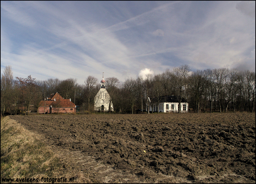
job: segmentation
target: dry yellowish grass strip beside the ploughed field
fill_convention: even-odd
[[[1,117],[1,183],[11,183],[3,182],[2,178],[42,177],[64,177],[68,181],[74,177],[75,183],[92,183],[86,173],[81,173],[79,168],[74,168],[71,163],[72,160],[58,156],[58,152],[47,146],[40,135],[24,129],[9,116]]]

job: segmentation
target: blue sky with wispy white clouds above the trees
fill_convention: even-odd
[[[1,75],[119,81],[255,71],[255,1],[1,1]]]

